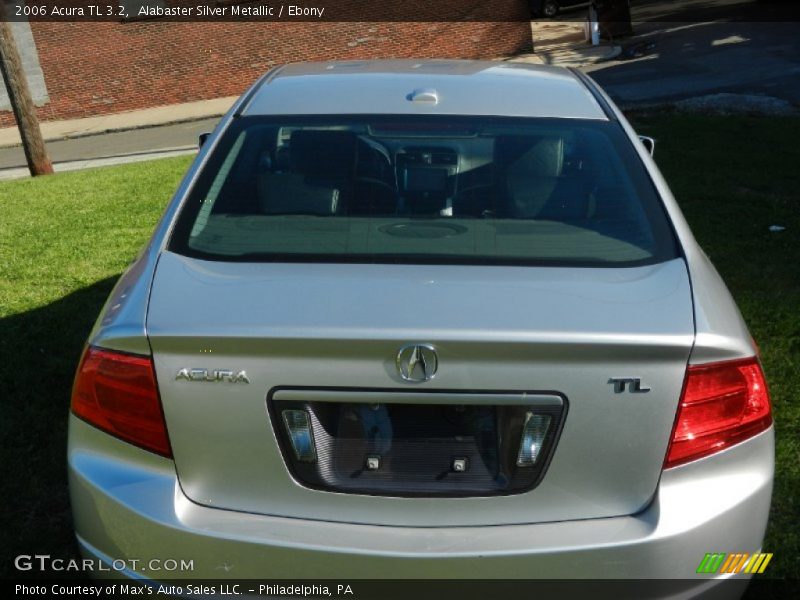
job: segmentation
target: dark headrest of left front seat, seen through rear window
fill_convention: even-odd
[[[351,131],[295,131],[289,141],[292,171],[316,177],[350,177],[356,158]]]

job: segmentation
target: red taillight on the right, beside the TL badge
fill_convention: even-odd
[[[690,365],[664,468],[718,452],[771,424],[769,392],[757,358]]]

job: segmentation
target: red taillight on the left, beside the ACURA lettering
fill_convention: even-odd
[[[72,387],[72,412],[126,442],[172,456],[148,356],[88,347]]]

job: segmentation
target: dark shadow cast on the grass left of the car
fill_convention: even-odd
[[[19,554],[77,555],[67,493],[67,415],[83,345],[117,277],[0,319],[0,576]],[[69,575],[64,573],[64,575]]]

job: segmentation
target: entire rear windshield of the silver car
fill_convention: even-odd
[[[234,119],[170,250],[230,261],[627,266],[676,255],[617,123]]]

